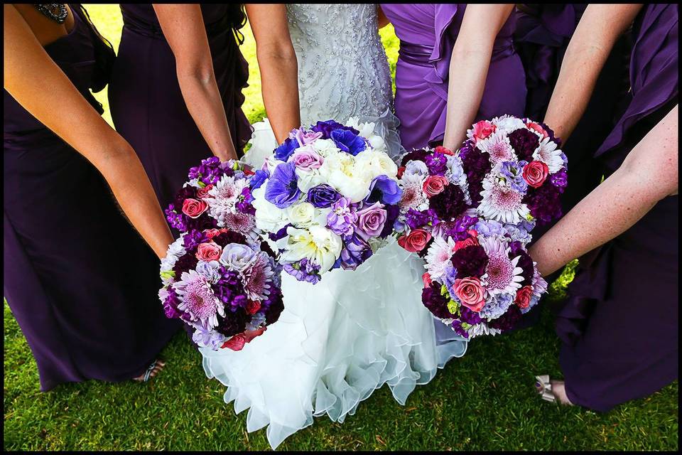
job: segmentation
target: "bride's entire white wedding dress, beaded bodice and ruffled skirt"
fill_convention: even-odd
[[[290,4],[287,16],[303,124],[374,122],[397,160],[404,149],[377,6]],[[245,161],[260,168],[277,144],[267,119],[254,129]],[[206,375],[227,386],[224,401],[234,401],[235,412],[249,409],[249,432],[268,425],[273,448],[313,416],[343,422],[384,384],[404,405],[467,348],[421,304],[422,264],[392,240],[357,270],[335,269],[315,285],[284,273],[279,321],[241,351],[201,348]]]

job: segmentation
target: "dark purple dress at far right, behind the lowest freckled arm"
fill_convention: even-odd
[[[678,6],[644,6],[633,33],[624,112],[595,153],[609,175],[678,104]],[[678,196],[580,258],[556,320],[569,399],[597,411],[678,378]]]

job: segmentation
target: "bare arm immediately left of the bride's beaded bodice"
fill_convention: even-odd
[[[247,16],[256,38],[263,102],[278,142],[301,127],[298,105],[298,61],[291,44],[283,4],[247,4]]]

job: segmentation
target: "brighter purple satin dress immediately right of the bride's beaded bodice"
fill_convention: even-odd
[[[407,150],[443,142],[450,56],[465,9],[466,4],[381,4],[400,39],[396,116]],[[524,114],[526,82],[512,40],[515,25],[511,14],[495,40],[476,121]]]

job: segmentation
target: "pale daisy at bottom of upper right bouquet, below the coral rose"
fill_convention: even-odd
[[[530,214],[528,206],[521,202],[524,196],[504,182],[494,181],[494,178],[485,178],[481,196],[477,211],[488,220],[516,224]]]

